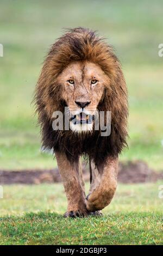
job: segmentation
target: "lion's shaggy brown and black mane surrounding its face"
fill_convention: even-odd
[[[52,114],[64,112],[62,86],[56,78],[74,60],[89,60],[101,66],[110,78],[110,84],[98,105],[99,111],[111,111],[111,134],[102,137],[101,131],[84,133],[54,131]],[[34,101],[41,125],[42,146],[54,152],[64,152],[70,161],[80,155],[89,156],[102,163],[106,156],[117,156],[127,146],[127,88],[121,65],[112,47],[96,32],[85,28],[68,29],[51,47],[36,84]]]

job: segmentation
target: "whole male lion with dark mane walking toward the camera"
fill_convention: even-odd
[[[34,100],[42,146],[54,151],[64,184],[68,200],[64,216],[101,215],[100,210],[111,202],[116,190],[118,154],[127,146],[127,88],[111,46],[89,29],[69,29],[47,55]],[[65,107],[71,129],[54,130],[53,113],[65,114]],[[109,136],[95,130],[92,117],[101,111],[111,111]],[[87,197],[82,155],[90,162]]]

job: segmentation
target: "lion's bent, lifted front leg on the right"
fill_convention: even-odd
[[[94,179],[92,179],[90,193],[86,200],[88,211],[102,210],[110,204],[117,187],[117,171],[118,158],[113,157],[108,157],[103,166],[92,169]]]

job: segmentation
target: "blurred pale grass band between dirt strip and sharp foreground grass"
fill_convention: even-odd
[[[158,197],[162,182],[148,184],[118,184],[112,203],[104,214],[120,212],[162,211],[162,200]],[[86,188],[88,191],[89,184]],[[61,184],[4,185],[4,198],[0,199],[0,216],[23,215],[26,212],[54,211],[64,214],[66,196]]]

